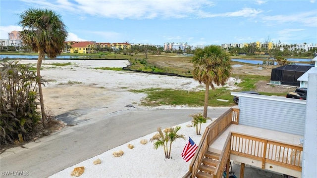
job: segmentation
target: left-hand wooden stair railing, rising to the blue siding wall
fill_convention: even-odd
[[[198,149],[189,166],[189,172],[183,178],[195,178],[199,166],[202,164],[205,153],[208,151],[209,145],[218,138],[231,124],[238,124],[239,109],[228,109],[209,126],[198,145]],[[188,176],[190,175],[190,176]]]

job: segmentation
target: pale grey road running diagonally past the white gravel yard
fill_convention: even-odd
[[[228,108],[209,108],[208,116],[216,118],[226,110]],[[12,174],[4,176],[3,171],[24,171],[31,178],[46,178],[116,146],[154,133],[159,126],[166,128],[188,122],[192,119],[189,114],[199,112],[202,113],[203,109],[126,108],[115,111],[112,108],[110,113],[109,108],[93,108],[73,111],[64,119],[76,121],[74,126],[27,143],[26,148],[11,148],[2,153],[0,177],[14,177]]]

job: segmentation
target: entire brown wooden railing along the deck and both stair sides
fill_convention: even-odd
[[[231,124],[238,123],[239,109],[233,108],[230,108],[212,122],[211,125],[206,128],[190,164],[189,172],[187,172],[183,178],[195,178],[211,143]],[[270,163],[296,171],[302,170],[302,145],[293,145],[247,134],[230,132],[219,156],[219,163],[216,166],[213,178],[222,178],[225,165],[228,164],[228,160],[230,159],[230,154],[261,161],[262,169],[265,168],[265,163]]]

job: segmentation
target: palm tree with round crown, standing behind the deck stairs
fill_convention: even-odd
[[[204,49],[198,48],[192,62],[193,78],[206,85],[204,117],[207,118],[209,87],[214,89],[213,83],[219,86],[228,80],[231,72],[229,54],[218,45],[209,45]]]

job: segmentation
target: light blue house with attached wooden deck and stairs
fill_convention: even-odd
[[[222,178],[229,160],[296,178],[317,175],[317,72],[307,100],[231,92],[239,96],[206,128],[183,178]],[[227,169],[228,170],[228,169]],[[227,172],[228,175],[228,172]]]

